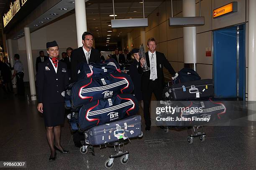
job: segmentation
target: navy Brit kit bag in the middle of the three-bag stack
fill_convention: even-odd
[[[133,83],[128,74],[110,73],[98,78],[77,81],[71,89],[71,100],[72,105],[78,107],[92,101],[132,91]]]

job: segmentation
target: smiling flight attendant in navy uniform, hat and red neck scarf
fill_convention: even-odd
[[[36,75],[39,112],[44,115],[46,138],[51,149],[49,161],[56,159],[56,150],[67,153],[60,144],[61,126],[64,124],[64,98],[61,92],[69,83],[67,65],[58,62],[59,47],[56,41],[47,42],[49,59],[38,64]],[[55,143],[55,145],[54,145]]]

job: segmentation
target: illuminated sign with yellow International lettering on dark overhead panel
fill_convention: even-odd
[[[16,13],[20,10],[27,0],[15,0],[14,2],[10,3],[10,10],[3,15],[3,24],[4,27],[10,22],[10,20],[14,17]]]

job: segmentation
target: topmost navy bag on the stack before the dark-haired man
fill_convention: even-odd
[[[113,60],[105,60],[100,64],[90,63],[89,65],[87,62],[81,62],[77,65],[77,80],[102,77],[112,72],[121,72],[120,66]]]

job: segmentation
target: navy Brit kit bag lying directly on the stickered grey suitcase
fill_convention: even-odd
[[[96,125],[114,122],[135,115],[138,110],[138,101],[131,94],[120,94],[108,99],[90,102],[87,105],[83,105],[79,110],[79,129],[87,130]],[[73,124],[76,123],[74,119],[71,121]]]

